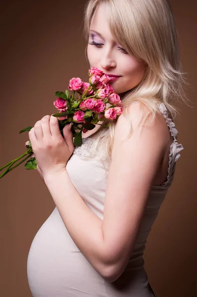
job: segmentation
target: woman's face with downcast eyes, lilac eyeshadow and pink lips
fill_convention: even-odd
[[[113,39],[107,21],[107,7],[99,5],[90,25],[87,57],[90,67],[96,67],[105,74],[118,78],[111,83],[117,94],[127,92],[143,79],[146,65],[128,54]]]

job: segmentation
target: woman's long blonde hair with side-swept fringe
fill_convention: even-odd
[[[158,103],[164,103],[172,119],[179,113],[176,100],[186,104],[184,78],[179,56],[177,30],[167,0],[89,0],[85,6],[84,34],[88,40],[92,16],[99,4],[109,9],[109,27],[116,41],[131,55],[143,60],[147,68],[143,80],[121,99],[123,113],[128,119],[128,107],[139,101],[150,110],[153,120]],[[152,121],[153,121],[152,120]],[[103,124],[108,123],[105,120]],[[100,126],[91,135],[95,149],[105,150],[111,159],[116,120],[109,128]],[[103,129],[109,130],[104,133]]]

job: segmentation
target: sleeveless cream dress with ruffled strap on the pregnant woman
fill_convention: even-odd
[[[144,269],[143,253],[147,237],[170,187],[176,161],[183,149],[177,143],[174,123],[163,103],[158,104],[172,135],[166,181],[153,186],[132,255],[121,276],[106,282],[91,266],[69,235],[57,207],[36,234],[27,260],[27,277],[34,297],[153,297]],[[107,174],[100,155],[87,149],[91,138],[83,138],[66,169],[86,205],[103,219]]]

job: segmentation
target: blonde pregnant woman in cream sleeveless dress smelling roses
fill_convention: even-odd
[[[174,18],[166,0],[89,0],[84,24],[90,67],[113,77],[123,112],[81,147],[53,116],[29,132],[56,205],[32,242],[29,286],[34,297],[155,296],[143,253],[183,149],[174,101],[187,102]]]

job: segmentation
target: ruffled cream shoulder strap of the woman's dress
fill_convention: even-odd
[[[175,165],[176,165],[175,163],[181,156],[180,151],[184,148],[183,148],[182,144],[177,143],[177,134],[179,132],[175,128],[175,124],[173,123],[172,119],[169,118],[166,106],[163,103],[159,103],[158,108],[159,108],[160,112],[163,114],[163,116],[166,120],[166,123],[169,127],[169,130],[171,132],[171,135],[174,138],[174,140],[170,146],[167,180],[166,180],[166,182],[164,182],[161,185],[161,186],[166,186],[167,184],[170,185],[172,183],[172,180],[174,177]]]

